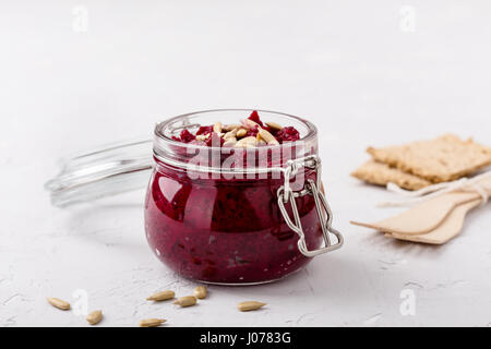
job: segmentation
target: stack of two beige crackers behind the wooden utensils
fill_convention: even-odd
[[[457,180],[491,165],[491,148],[454,134],[406,145],[369,147],[367,152],[372,159],[351,176],[376,185],[392,182],[407,190]]]

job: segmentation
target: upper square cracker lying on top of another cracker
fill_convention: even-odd
[[[369,147],[367,152],[378,161],[433,183],[453,181],[491,165],[491,148],[454,134],[400,146]]]

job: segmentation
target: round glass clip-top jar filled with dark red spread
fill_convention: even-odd
[[[220,140],[225,131],[212,134],[209,125],[217,121],[237,124],[248,117],[261,123],[259,130],[279,134],[279,144],[230,147]],[[273,130],[267,122],[284,128]],[[206,133],[208,139],[196,141],[196,134]],[[268,282],[343,243],[340,234],[328,229],[328,206],[318,209],[325,201],[315,161],[316,130],[306,120],[252,110],[176,117],[156,125],[154,159],[145,201],[146,237],[157,257],[185,278]],[[336,244],[326,229],[337,237]]]

